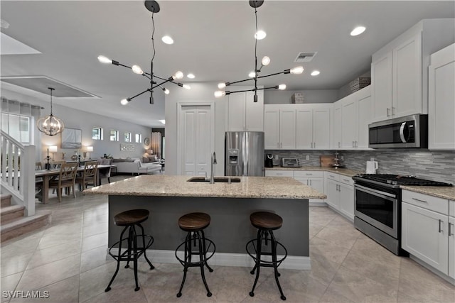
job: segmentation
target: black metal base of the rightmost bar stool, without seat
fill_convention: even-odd
[[[269,238],[270,236],[270,238]],[[267,242],[270,241],[270,251],[262,251],[262,241],[264,240],[265,245],[267,246]],[[277,247],[281,247],[284,250],[284,256],[280,258],[279,260],[277,259]],[[251,252],[251,249],[254,250],[254,253]],[[255,267],[251,270],[251,274],[254,275],[256,272],[256,277],[255,277],[255,283],[253,284],[252,290],[250,292],[250,297],[255,296],[255,287],[257,284],[257,280],[259,279],[259,271],[261,267],[265,268],[273,268],[274,269],[274,276],[275,276],[275,281],[277,282],[279,294],[281,295],[282,300],[286,300],[286,297],[283,294],[283,290],[281,285],[279,284],[278,277],[280,276],[278,272],[278,267],[279,265],[286,259],[287,257],[287,249],[282,245],[282,243],[279,243],[274,235],[273,231],[267,230],[267,229],[258,229],[257,230],[257,238],[249,241],[246,246],[246,250],[248,255],[255,260]],[[263,255],[269,255],[272,257],[272,260],[263,260],[261,257]]]

